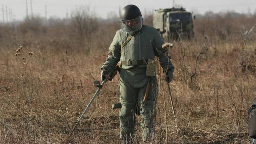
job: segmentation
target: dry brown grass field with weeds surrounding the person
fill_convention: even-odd
[[[112,109],[119,100],[118,75],[104,84],[67,140],[97,90],[93,81],[100,80],[100,66],[119,28],[117,20],[91,18],[82,30],[75,22],[0,26],[0,143],[120,143],[119,111]],[[192,40],[172,41],[170,88],[178,132],[158,68],[154,142],[250,143],[247,110],[256,96],[256,34],[243,34],[255,23],[256,16],[202,18],[194,21]],[[140,116],[137,121],[134,143],[141,143]]]

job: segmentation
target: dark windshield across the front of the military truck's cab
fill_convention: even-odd
[[[190,13],[170,13],[170,22],[182,21],[182,22],[191,22],[192,17]]]

